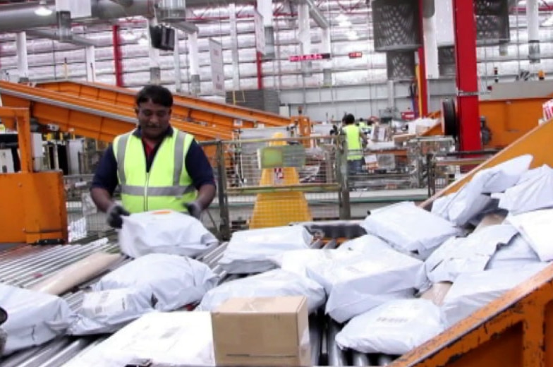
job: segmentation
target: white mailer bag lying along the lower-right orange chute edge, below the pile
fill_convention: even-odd
[[[447,292],[442,306],[446,326],[466,318],[478,308],[545,269],[547,265],[535,263],[459,275]]]

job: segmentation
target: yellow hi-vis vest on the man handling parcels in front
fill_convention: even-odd
[[[185,203],[196,198],[196,189],[186,171],[185,157],[191,134],[174,129],[159,146],[146,172],[146,157],[142,139],[133,131],[114,139],[117,176],[121,187],[123,206],[131,213],[148,210],[176,210],[186,212]]]

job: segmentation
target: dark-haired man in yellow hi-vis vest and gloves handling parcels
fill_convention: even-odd
[[[121,228],[121,216],[149,210],[200,218],[215,197],[213,169],[194,136],[169,124],[171,91],[147,85],[135,100],[138,127],[116,136],[104,152],[92,179],[92,200],[114,228]],[[118,185],[121,204],[113,200]]]

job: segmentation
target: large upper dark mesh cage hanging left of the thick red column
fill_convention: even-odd
[[[418,1],[374,0],[371,4],[376,51],[420,47]]]

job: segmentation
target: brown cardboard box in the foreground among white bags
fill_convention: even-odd
[[[235,298],[212,313],[217,366],[310,366],[304,296]]]

